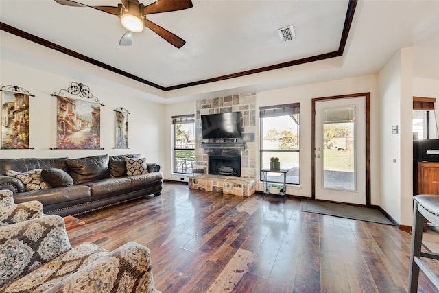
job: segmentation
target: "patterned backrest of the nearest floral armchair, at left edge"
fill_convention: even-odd
[[[0,288],[71,249],[64,220],[47,215],[0,228]]]

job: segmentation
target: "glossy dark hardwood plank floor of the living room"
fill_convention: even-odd
[[[301,212],[300,202],[165,183],[161,196],[79,216],[86,224],[69,237],[147,246],[163,292],[407,292],[410,233]],[[419,292],[436,292],[422,273]]]

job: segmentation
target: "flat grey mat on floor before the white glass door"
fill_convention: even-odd
[[[302,200],[302,211],[308,213],[320,213],[322,215],[333,215],[334,217],[375,222],[379,224],[393,225],[379,209],[369,207],[357,207],[349,204],[335,204],[333,202],[318,202]]]

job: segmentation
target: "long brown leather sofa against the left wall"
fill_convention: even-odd
[[[10,189],[16,203],[38,200],[45,214],[80,215],[143,196],[160,195],[160,165],[143,163],[147,169],[143,173],[147,174],[127,175],[126,158],[137,161],[140,157],[141,154],[126,154],[78,159],[0,159],[0,189]],[[34,175],[24,180],[20,177],[32,170],[40,176],[36,180],[32,179]],[[42,178],[44,182],[39,181]],[[32,181],[26,184],[27,179]],[[33,183],[38,186],[32,187]],[[42,186],[45,189],[40,189]]]

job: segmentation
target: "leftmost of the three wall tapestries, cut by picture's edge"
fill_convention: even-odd
[[[1,148],[29,149],[29,97],[19,86],[2,86],[1,90]]]

